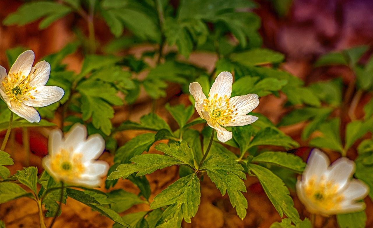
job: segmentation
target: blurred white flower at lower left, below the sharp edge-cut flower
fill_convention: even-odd
[[[101,177],[109,169],[106,161],[97,161],[105,149],[101,135],[87,139],[87,129],[77,123],[66,133],[53,130],[49,135],[49,155],[43,158],[43,167],[56,181],[87,187],[100,185]]]

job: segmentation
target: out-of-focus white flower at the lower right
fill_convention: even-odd
[[[342,157],[333,162],[322,151],[313,149],[297,182],[297,195],[307,210],[323,216],[359,212],[365,208],[363,199],[369,187],[351,179],[355,163]]]

